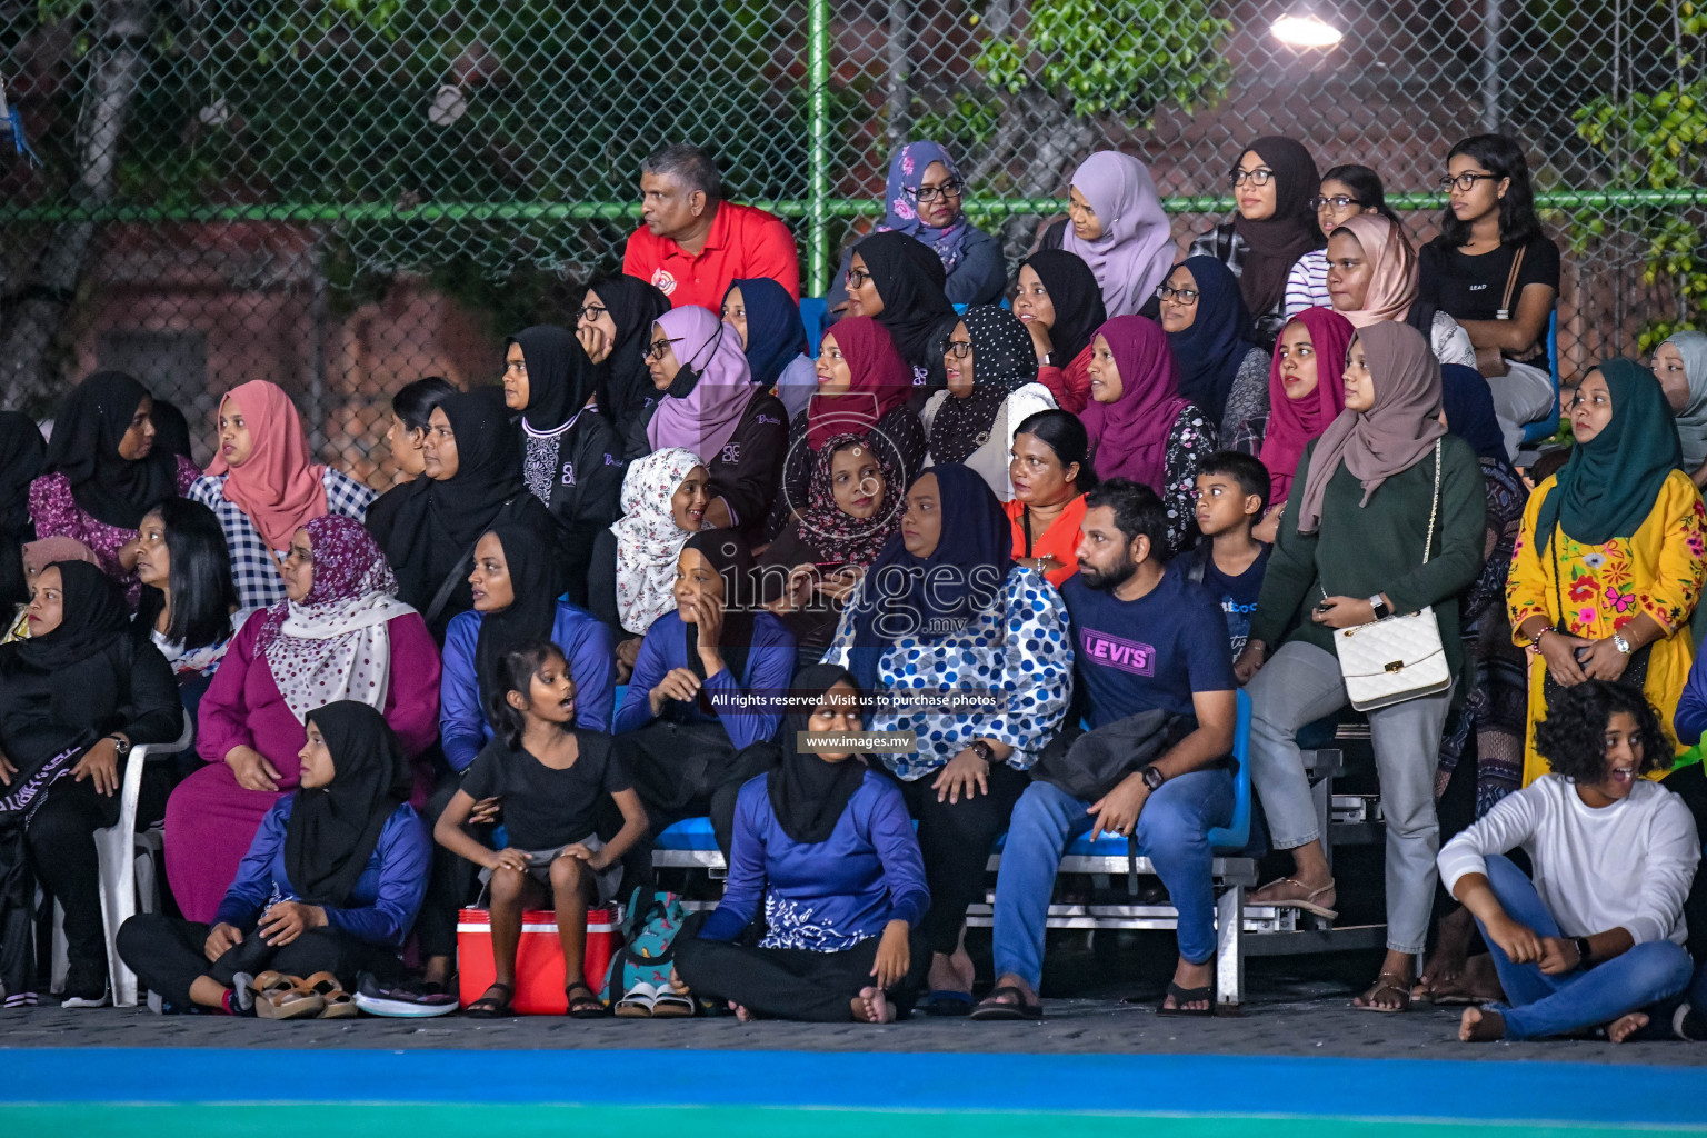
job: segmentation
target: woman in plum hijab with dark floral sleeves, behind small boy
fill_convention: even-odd
[[[1161,324],[1116,316],[1091,338],[1091,467],[1101,479],[1144,483],[1168,507],[1168,539],[1178,553],[1197,532],[1197,467],[1215,452],[1219,432],[1180,394],[1180,372]]]

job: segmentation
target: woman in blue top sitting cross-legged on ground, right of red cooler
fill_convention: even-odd
[[[802,706],[789,711],[780,763],[741,787],[724,899],[676,938],[671,979],[743,1020],[888,1024],[912,1010],[930,959],[918,839],[900,790],[865,756],[795,747],[799,732],[860,730],[854,677],[816,664],[790,694]],[[737,943],[761,903],[765,937]]]

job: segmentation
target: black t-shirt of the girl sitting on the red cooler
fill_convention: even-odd
[[[504,829],[517,850],[556,850],[596,827],[604,795],[630,790],[633,781],[616,758],[611,737],[575,730],[580,758],[555,769],[527,751],[510,751],[493,739],[469,763],[463,790],[476,802],[504,798]]]

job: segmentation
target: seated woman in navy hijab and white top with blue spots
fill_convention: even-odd
[[[966,906],[983,894],[990,843],[1072,696],[1067,606],[1041,573],[1014,565],[1012,549],[1012,524],[983,478],[958,462],[930,467],[906,490],[901,532],[865,572],[824,653],[864,691],[997,700],[872,715],[872,730],[918,737],[917,751],[883,763],[925,853],[930,1013],[971,1010]]]

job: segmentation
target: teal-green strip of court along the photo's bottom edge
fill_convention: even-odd
[[[667,1080],[661,1083],[667,1087]],[[283,1090],[275,1083],[273,1090]],[[877,1089],[872,1094],[879,1094]],[[77,1138],[376,1138],[379,1135],[454,1135],[456,1138],[562,1138],[563,1135],[691,1135],[693,1138],[1038,1138],[1063,1123],[1074,1133],[1113,1138],[1676,1138],[1707,1128],[1529,1123],[1422,1123],[1337,1118],[1062,1116],[1040,1111],[814,1111],[790,1107],[667,1106],[0,1106],[0,1133],[77,1135]]]

